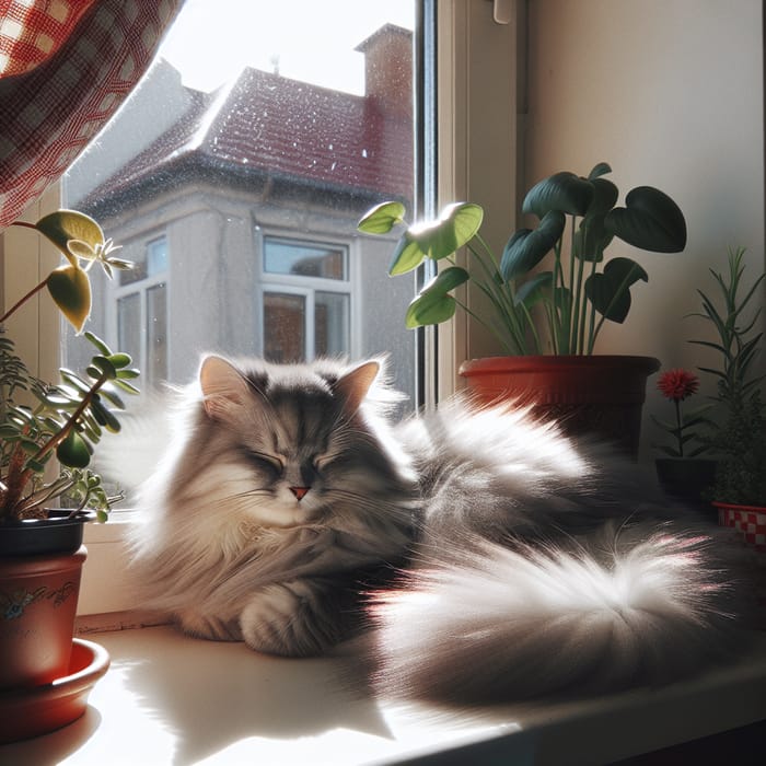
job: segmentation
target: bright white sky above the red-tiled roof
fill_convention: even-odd
[[[245,66],[363,93],[355,48],[386,22],[411,30],[414,0],[186,0],[160,55],[184,84],[216,89]]]

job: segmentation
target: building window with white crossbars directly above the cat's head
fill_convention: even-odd
[[[348,247],[265,236],[262,266],[264,357],[295,362],[348,356]]]

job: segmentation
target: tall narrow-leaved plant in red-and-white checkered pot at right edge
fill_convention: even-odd
[[[743,295],[744,253],[741,247],[729,249],[727,274],[710,269],[719,300],[698,290],[703,311],[696,316],[713,326],[717,338],[692,343],[721,358],[720,368],[700,368],[715,376],[713,398],[722,410],[710,440],[718,455],[711,499],[719,522],[740,530],[751,545],[766,552],[766,408],[761,392],[764,376],[754,373],[763,333],[756,329],[761,309],[752,307],[766,274]]]

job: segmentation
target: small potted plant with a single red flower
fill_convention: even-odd
[[[673,403],[674,413],[672,420],[652,416],[654,423],[671,437],[670,444],[654,444],[665,455],[654,461],[660,485],[674,497],[709,507],[704,498],[715,478],[716,461],[701,456],[709,452],[710,443],[709,437],[697,429],[715,426],[708,415],[715,405],[706,403],[684,410],[682,402],[699,390],[699,379],[688,370],[665,370],[657,387]]]

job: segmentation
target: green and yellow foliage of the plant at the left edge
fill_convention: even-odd
[[[103,520],[116,498],[107,495],[90,468],[91,457],[104,430],[119,431],[115,410],[124,408],[123,393],[138,393],[132,382],[138,370],[127,353],[113,351],[85,332],[94,347],[86,369],[78,373],[62,368],[58,383],[44,382],[20,358],[4,323],[33,295],[47,290],[66,320],[83,334],[91,312],[90,269],[98,264],[112,278],[114,269],[132,265],[115,257],[117,248],[104,239],[101,227],[77,211],[58,210],[34,224],[12,225],[47,237],[66,263],[0,316],[0,522],[43,518],[62,497],[72,503],[72,515],[88,507]]]

